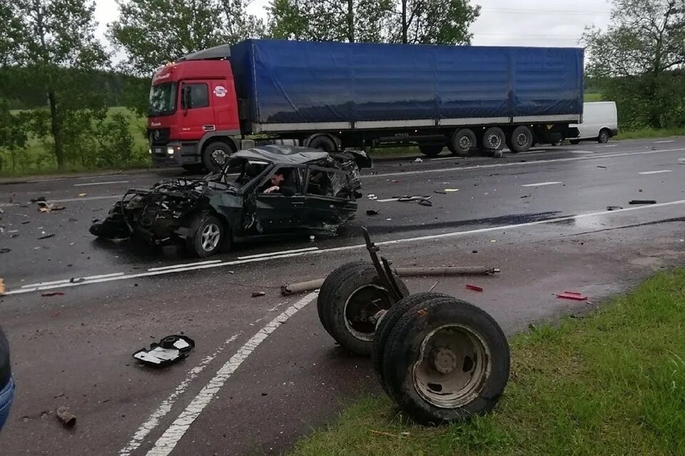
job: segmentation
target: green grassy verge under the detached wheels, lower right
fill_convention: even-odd
[[[685,442],[685,269],[582,319],[517,335],[492,414],[412,425],[386,397],[342,412],[294,455],[666,455]]]

